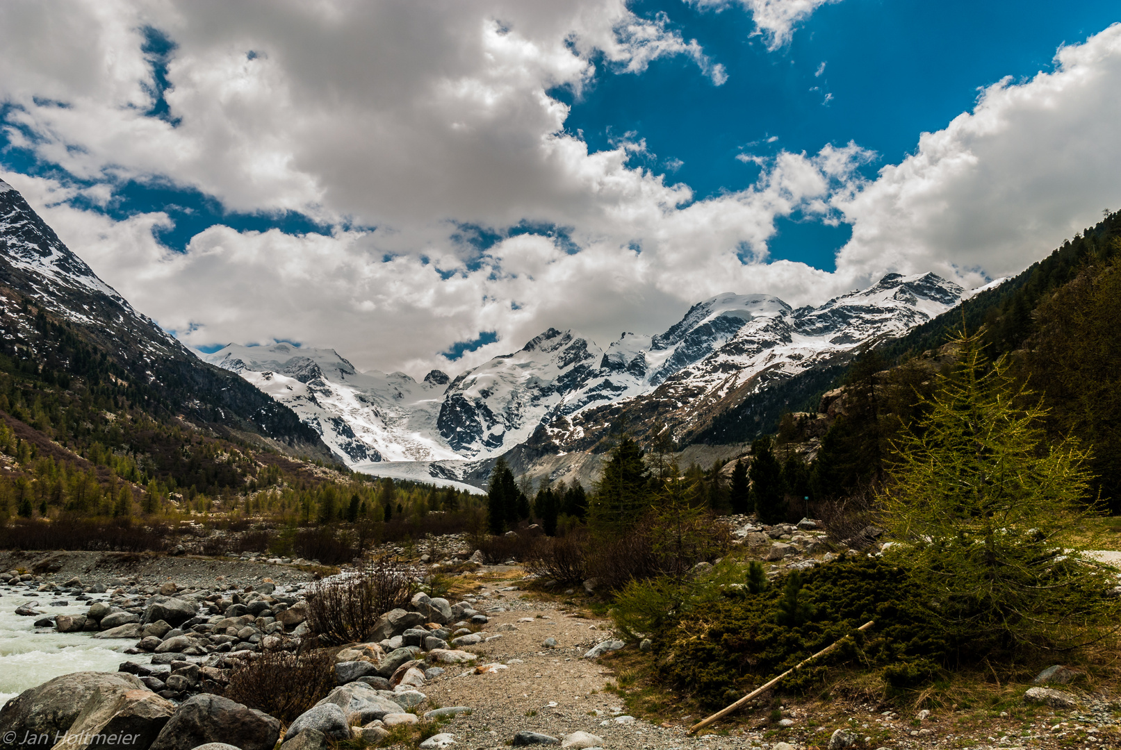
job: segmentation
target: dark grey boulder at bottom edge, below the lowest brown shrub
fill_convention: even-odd
[[[240,750],[272,750],[280,722],[230,699],[203,693],[186,700],[164,725],[149,750],[192,750],[224,742]]]

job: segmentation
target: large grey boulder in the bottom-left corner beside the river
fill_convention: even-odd
[[[21,747],[4,739],[9,732],[17,738],[47,734],[50,739],[43,742],[53,744],[54,735],[70,729],[95,692],[109,696],[132,690],[146,688],[135,675],[119,672],[75,672],[30,687],[0,709],[0,750]]]

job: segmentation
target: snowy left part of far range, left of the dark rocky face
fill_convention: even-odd
[[[405,373],[360,373],[334,349],[288,344],[231,344],[204,358],[289,406],[352,466],[461,458],[436,429],[448,382],[438,369],[418,383]]]

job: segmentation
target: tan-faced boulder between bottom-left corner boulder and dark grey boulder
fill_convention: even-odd
[[[115,750],[147,750],[174,713],[174,703],[147,687],[124,692],[96,690],[71,724],[66,739],[55,743],[55,748],[86,750],[110,746]],[[112,737],[119,738],[118,741],[98,741]]]

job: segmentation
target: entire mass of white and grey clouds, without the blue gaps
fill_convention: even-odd
[[[818,4],[750,9],[779,44]],[[7,132],[81,179],[3,178],[188,345],[299,340],[423,375],[549,326],[601,344],[655,332],[723,291],[804,304],[887,271],[981,281],[1121,204],[1110,170],[1121,157],[1118,27],[1059,50],[1054,72],[990,87],[874,179],[861,178],[872,154],[854,143],[743,153],[760,168],[756,184],[697,200],[646,166],[657,158],[640,133],[590,151],[549,95],[665,56],[692,60],[701,85],[721,83],[719,62],[670,19],[637,17],[621,0],[44,8],[0,7]],[[771,17],[787,25],[765,27]],[[149,28],[176,45],[165,119],[145,114],[158,92],[141,49]],[[89,207],[109,205],[126,178],[334,228],[216,225],[172,252],[154,235],[168,215],[114,222]],[[770,257],[776,219],[793,214],[852,224],[835,273]],[[472,233],[495,241],[466,242]],[[438,354],[480,331],[499,340],[455,366]]]

